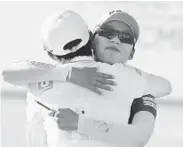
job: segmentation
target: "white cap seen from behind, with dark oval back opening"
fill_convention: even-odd
[[[86,45],[89,40],[89,29],[84,19],[70,10],[61,10],[48,16],[41,28],[41,38],[46,50],[54,55],[66,55]],[[81,42],[71,49],[64,46],[76,39]]]

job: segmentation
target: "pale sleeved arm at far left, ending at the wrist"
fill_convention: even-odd
[[[55,69],[54,65],[35,61],[16,62],[3,70],[4,81],[14,85],[25,85],[40,81],[65,81],[69,68]]]

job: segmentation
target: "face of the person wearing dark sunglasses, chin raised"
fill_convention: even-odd
[[[97,60],[108,63],[126,63],[133,49],[134,37],[131,28],[120,21],[103,25],[94,37]]]

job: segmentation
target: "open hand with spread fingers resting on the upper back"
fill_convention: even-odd
[[[98,72],[96,67],[85,67],[81,69],[73,67],[69,82],[87,88],[101,95],[102,91],[100,89],[112,91],[112,88],[110,86],[116,85],[113,80],[109,79],[114,79],[114,76]]]

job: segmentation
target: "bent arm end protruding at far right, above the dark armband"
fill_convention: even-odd
[[[146,74],[146,90],[144,95],[151,94],[155,98],[169,95],[172,92],[171,83],[160,76]]]

